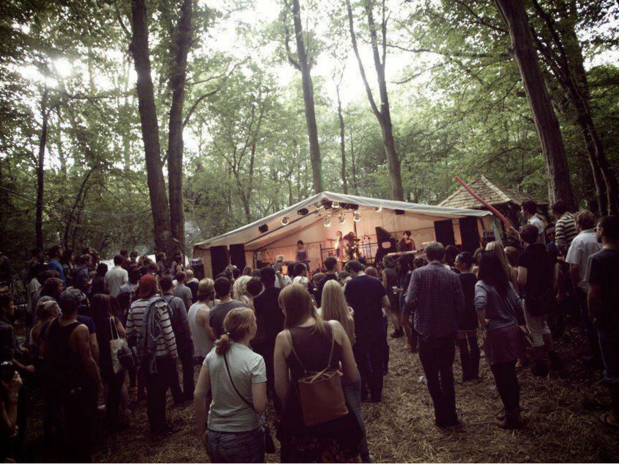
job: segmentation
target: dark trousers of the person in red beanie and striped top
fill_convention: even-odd
[[[167,428],[165,421],[165,393],[170,387],[171,376],[176,376],[176,359],[170,356],[157,358],[157,374],[150,374],[148,366],[141,367],[146,380],[146,413],[149,418],[150,433],[162,434]]]

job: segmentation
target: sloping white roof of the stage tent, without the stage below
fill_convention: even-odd
[[[445,218],[461,218],[466,216],[481,217],[490,214],[490,212],[487,211],[420,205],[395,200],[382,200],[368,197],[357,197],[354,195],[344,195],[334,192],[321,192],[277,213],[273,213],[258,221],[254,221],[251,224],[211,238],[202,243],[197,243],[194,247],[208,249],[212,246],[230,245],[235,243],[243,243],[245,246],[251,246],[258,244],[258,242],[274,241],[282,236],[300,231],[306,226],[314,223],[314,221],[320,220],[320,217],[318,216],[318,206],[321,204],[322,200],[329,200],[332,202],[335,201],[340,204],[347,203],[359,205],[359,210],[363,210],[361,207],[366,207],[366,209],[382,207],[389,210],[404,210],[422,215],[433,215]],[[304,216],[298,215],[297,211],[301,208],[308,208],[309,213]],[[283,217],[288,217],[288,225],[284,226],[280,222]],[[258,227],[261,225],[269,226],[269,231],[261,234],[258,230]]]

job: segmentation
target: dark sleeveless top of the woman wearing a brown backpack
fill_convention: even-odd
[[[314,330],[313,325],[290,329],[292,344],[295,347],[295,351],[297,351],[297,355],[301,359],[301,363],[303,363],[303,367],[305,367],[308,372],[320,372],[327,367],[327,362],[329,362],[332,337],[331,324],[328,322],[322,322],[322,324],[324,324],[326,336],[322,336],[318,330]],[[333,356],[331,358],[331,367],[337,369],[340,361],[342,361],[342,345],[335,342]],[[288,354],[287,362],[288,367],[290,367],[292,379],[295,382],[301,377],[305,377],[305,370],[301,367],[299,361],[297,361],[292,350],[290,354]]]

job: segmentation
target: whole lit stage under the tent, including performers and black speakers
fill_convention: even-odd
[[[214,237],[193,248],[193,265],[204,265],[205,277],[213,277],[228,264],[241,269],[259,268],[272,262],[293,262],[297,241],[305,244],[309,270],[322,267],[334,255],[337,231],[352,233],[366,262],[374,262],[383,247],[391,251],[404,231],[411,232],[417,250],[438,240],[475,251],[490,231],[491,213],[482,210],[420,205],[394,200],[322,192],[236,230]],[[391,240],[390,240],[391,239]],[[394,249],[392,251],[395,251]],[[202,262],[200,262],[200,260]]]

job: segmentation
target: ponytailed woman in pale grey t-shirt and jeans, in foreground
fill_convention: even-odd
[[[223,320],[222,337],[202,364],[194,408],[210,462],[264,462],[259,415],[267,409],[267,376],[264,359],[249,348],[256,329],[251,309],[231,309]],[[207,407],[209,389],[212,401]]]

